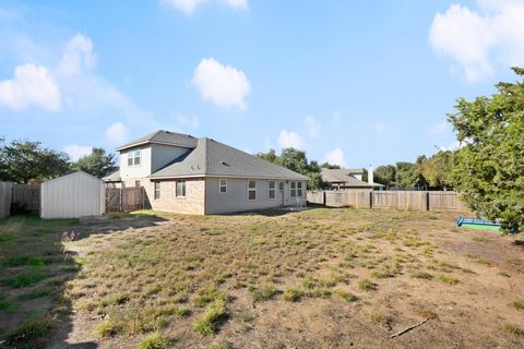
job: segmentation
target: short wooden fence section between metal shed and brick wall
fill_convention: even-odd
[[[130,212],[147,208],[147,195],[141,188],[107,188],[106,212]]]

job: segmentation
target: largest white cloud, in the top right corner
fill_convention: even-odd
[[[493,72],[493,60],[507,65],[524,63],[524,1],[478,0],[480,11],[452,4],[433,19],[429,43],[462,67],[468,81]]]

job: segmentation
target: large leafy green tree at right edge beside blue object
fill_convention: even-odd
[[[524,69],[513,68],[522,79]],[[524,226],[524,82],[499,83],[498,93],[457,99],[449,115],[457,140],[455,188],[477,214],[504,229]]]

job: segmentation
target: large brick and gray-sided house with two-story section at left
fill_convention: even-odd
[[[306,205],[308,178],[217,141],[157,131],[122,145],[108,186],[143,186],[153,209],[224,214]]]

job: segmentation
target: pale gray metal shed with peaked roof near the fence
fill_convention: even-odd
[[[99,216],[106,210],[102,180],[76,171],[41,183],[41,218]]]

